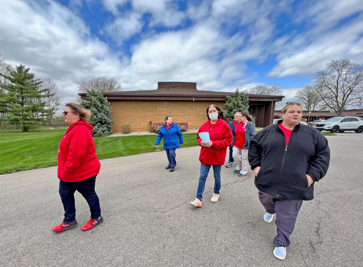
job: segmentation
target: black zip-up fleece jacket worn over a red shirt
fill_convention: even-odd
[[[250,141],[249,164],[252,170],[261,167],[254,183],[258,190],[277,197],[311,200],[314,183],[329,167],[328,141],[317,129],[298,124],[286,146],[285,134],[278,126],[281,121],[262,129]],[[310,187],[306,174],[314,180]]]

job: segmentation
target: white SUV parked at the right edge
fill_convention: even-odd
[[[360,117],[334,117],[315,124],[318,131],[344,132],[355,131],[363,133],[363,118]]]

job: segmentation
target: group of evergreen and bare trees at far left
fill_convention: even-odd
[[[29,68],[15,68],[0,54],[0,126],[7,122],[23,131],[51,125],[62,98],[49,78],[36,78]]]

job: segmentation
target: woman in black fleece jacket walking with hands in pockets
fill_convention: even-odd
[[[315,128],[301,125],[302,106],[289,102],[282,120],[257,133],[250,141],[248,161],[265,222],[276,213],[274,256],[284,259],[286,247],[303,200],[314,198],[314,183],[326,174],[330,150],[326,138]]]

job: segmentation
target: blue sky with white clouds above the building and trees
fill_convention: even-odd
[[[0,0],[0,53],[65,101],[100,75],[211,91],[275,85],[287,99],[331,59],[363,64],[363,0]]]

